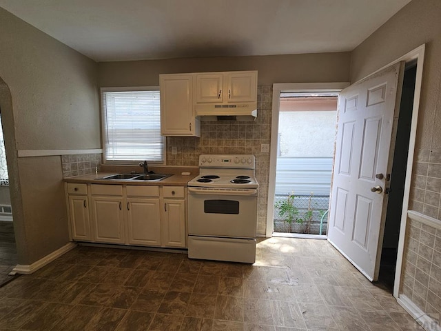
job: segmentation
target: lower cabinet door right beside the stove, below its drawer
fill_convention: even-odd
[[[185,200],[164,199],[163,203],[163,246],[186,247]]]

